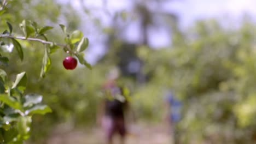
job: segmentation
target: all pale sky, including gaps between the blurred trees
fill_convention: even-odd
[[[79,11],[83,11],[80,0],[57,0],[62,3],[72,2],[73,7]],[[136,1],[136,0],[133,0]],[[108,9],[110,15],[115,11],[127,10],[132,8],[132,0],[107,0],[107,3],[103,3],[103,0],[84,0],[84,4],[89,8],[99,8],[98,15],[101,17],[103,24],[108,26],[110,24],[109,17],[106,13],[101,13],[102,8]],[[256,0],[172,0],[167,1],[161,8],[156,4],[150,4],[149,7],[160,11],[169,13],[175,13],[179,18],[179,25],[181,28],[187,28],[193,25],[195,20],[206,19],[215,17],[223,22],[227,19],[239,22],[243,14],[247,13],[252,16],[256,16]],[[254,18],[254,17],[253,17]],[[86,21],[86,20],[84,20]],[[138,42],[141,38],[139,35],[138,22],[133,22],[124,33],[124,37],[127,41]],[[149,29],[149,44],[152,47],[164,47],[170,45],[170,33],[164,28]],[[99,57],[104,54],[104,44],[101,43],[104,40],[101,34],[88,35],[91,40],[91,45],[88,49],[88,55],[86,59],[94,64]]]

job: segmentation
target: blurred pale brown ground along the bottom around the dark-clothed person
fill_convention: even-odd
[[[133,125],[127,136],[126,144],[168,144],[170,143],[167,127],[152,125]],[[91,130],[68,130],[59,126],[53,132],[47,144],[103,144],[103,133],[101,129]],[[118,137],[115,137],[118,144]]]

